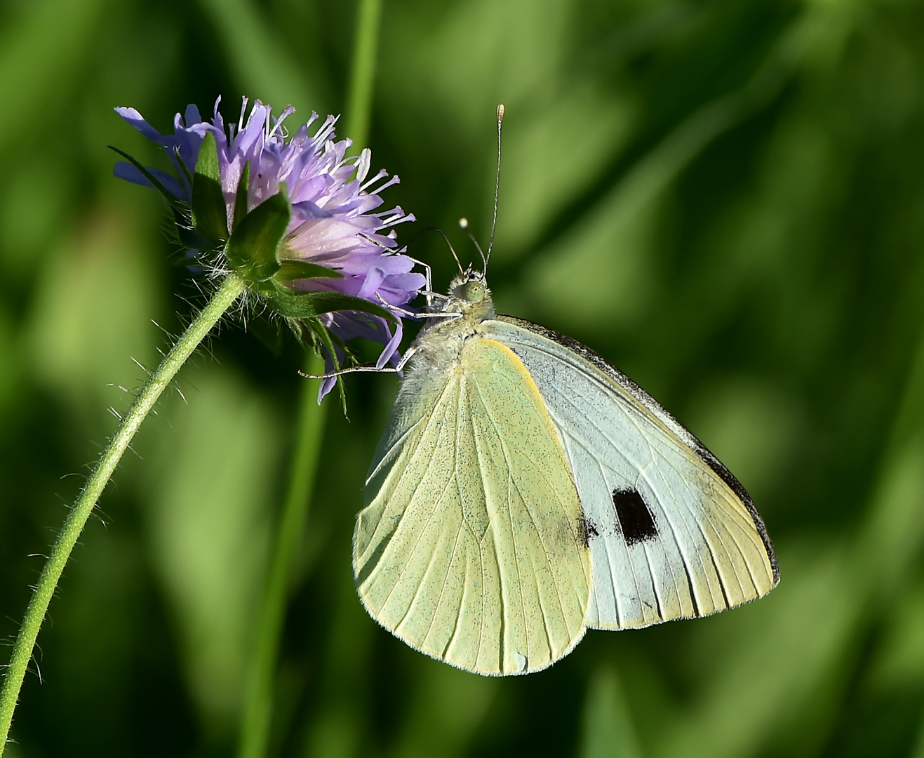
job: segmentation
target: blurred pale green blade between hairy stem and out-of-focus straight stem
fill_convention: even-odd
[[[181,413],[162,414],[173,422],[158,420],[145,461],[146,521],[154,567],[176,618],[183,679],[205,727],[233,740],[244,710],[285,427],[274,405],[233,366],[196,367],[186,379],[195,396]]]

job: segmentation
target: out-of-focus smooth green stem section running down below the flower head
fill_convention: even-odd
[[[311,355],[306,373],[323,373],[324,362]],[[305,532],[311,490],[324,432],[324,409],[318,405],[318,385],[303,382],[298,401],[298,438],[292,454],[286,502],[279,519],[270,573],[263,596],[260,627],[250,670],[242,723],[240,758],[262,758],[273,721],[273,684],[283,622],[286,620],[289,584],[298,546]]]

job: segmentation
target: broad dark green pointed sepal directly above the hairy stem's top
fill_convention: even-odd
[[[279,271],[277,251],[292,217],[286,186],[245,215],[225,248],[234,272],[249,282],[265,282]]]

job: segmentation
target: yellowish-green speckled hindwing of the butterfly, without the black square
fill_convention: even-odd
[[[584,633],[590,555],[565,451],[503,345],[410,373],[366,482],[353,567],[407,644],[479,674],[551,665]]]

